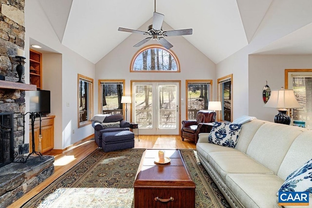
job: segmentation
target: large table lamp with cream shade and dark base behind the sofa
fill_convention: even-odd
[[[276,108],[278,114],[274,117],[275,123],[291,124],[291,117],[287,114],[288,109],[302,108],[293,94],[293,90],[285,90],[283,87],[280,90],[271,91],[268,102],[264,105],[266,108]]]

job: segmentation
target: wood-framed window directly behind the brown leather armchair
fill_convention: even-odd
[[[212,83],[212,80],[186,80],[187,119],[195,119],[199,110],[208,109]]]

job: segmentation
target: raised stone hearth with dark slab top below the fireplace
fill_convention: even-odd
[[[30,156],[0,168],[0,207],[7,207],[54,172],[54,156]]]

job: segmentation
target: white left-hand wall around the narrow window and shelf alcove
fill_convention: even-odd
[[[43,90],[45,87],[51,89],[55,87],[52,93],[54,97],[51,97],[53,100],[51,114],[58,116],[55,122],[54,148],[64,149],[94,133],[91,125],[78,129],[78,74],[94,78],[95,65],[59,42],[59,38],[38,0],[25,1],[25,31],[26,44],[29,43],[29,38],[33,38],[61,55],[61,60],[54,63],[57,65],[57,69],[53,69],[52,66],[47,67],[45,64],[46,68],[43,68],[43,71],[49,70],[49,73],[43,72]],[[28,50],[29,46],[25,45],[25,51]],[[29,59],[27,53],[26,58]],[[54,70],[56,71],[54,72]],[[25,74],[27,73],[29,73],[29,66],[26,64]],[[25,76],[25,78],[29,79],[29,76]],[[69,102],[69,107],[66,107],[66,102]],[[74,134],[72,134],[72,130],[75,130]],[[28,135],[26,132],[25,137],[29,137]]]

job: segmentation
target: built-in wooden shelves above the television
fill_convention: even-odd
[[[29,51],[29,77],[30,84],[42,89],[42,54],[32,49]]]

